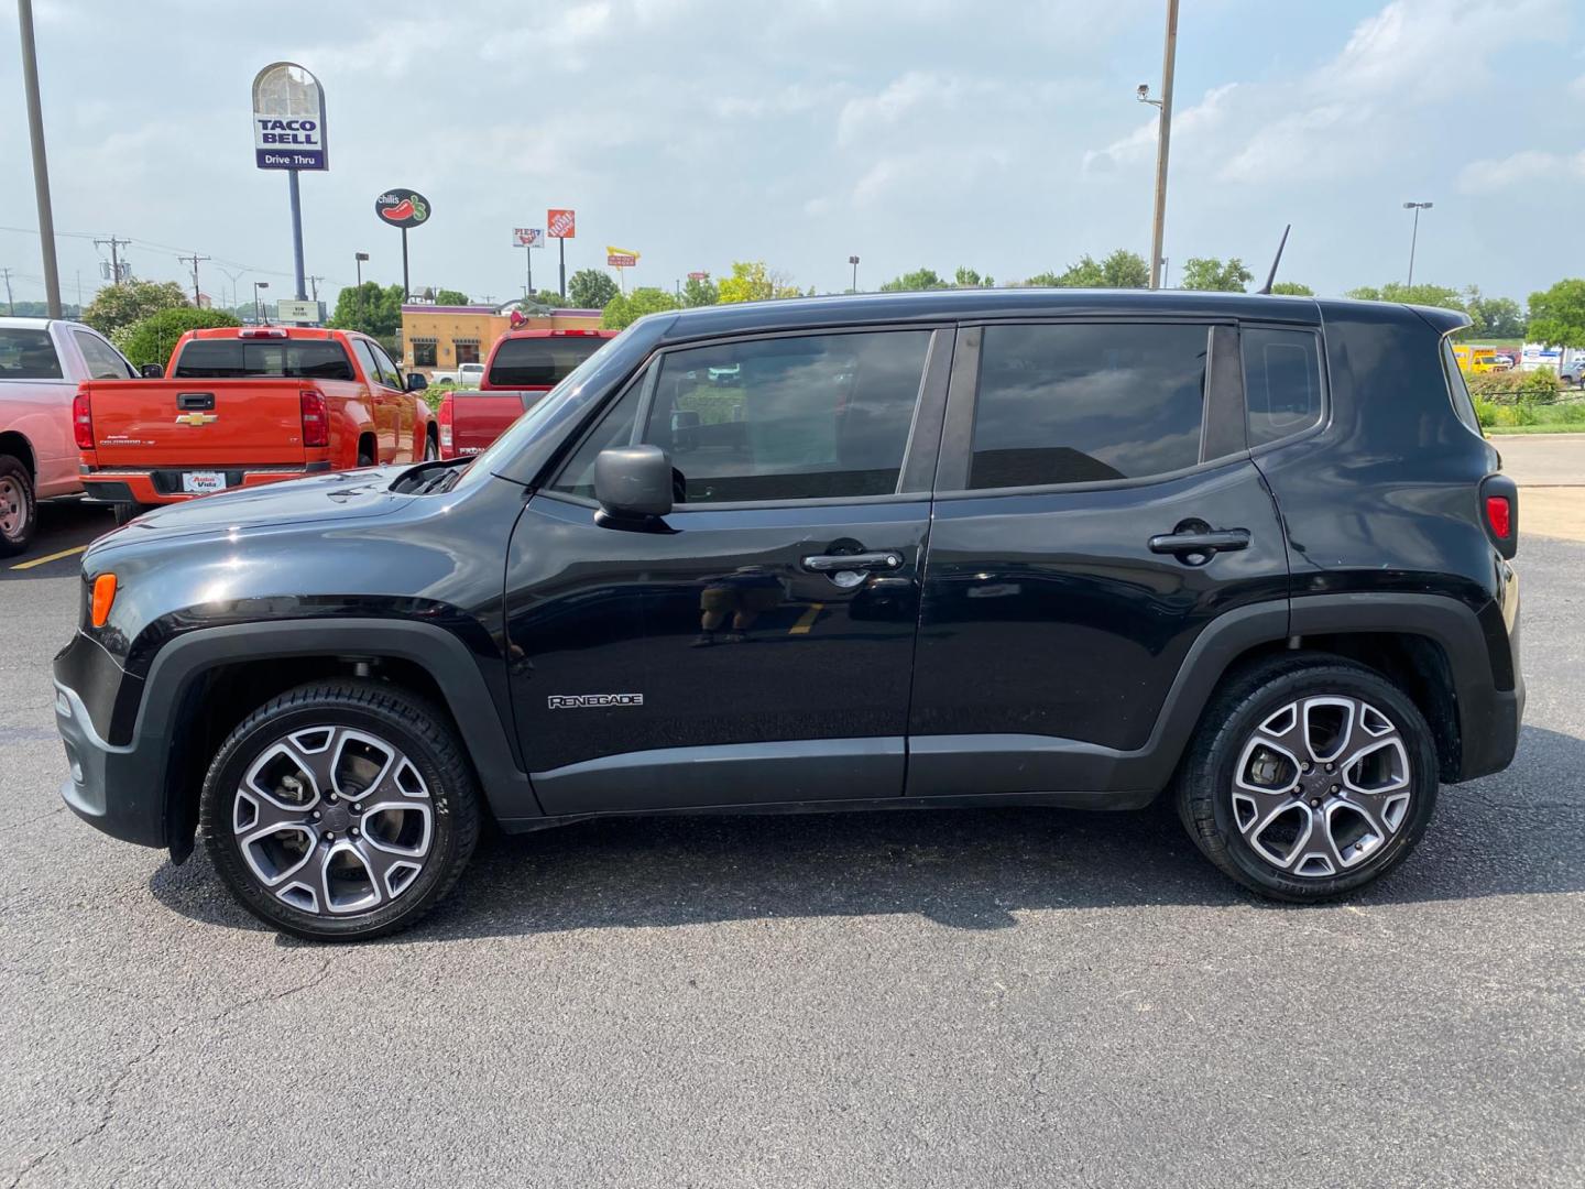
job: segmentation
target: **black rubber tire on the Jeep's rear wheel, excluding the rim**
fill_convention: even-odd
[[[1355,859],[1357,866],[1346,869],[1335,866],[1333,874],[1325,874],[1323,864],[1317,862],[1317,874],[1298,874],[1304,862],[1295,862],[1293,870],[1282,870],[1255,850],[1255,845],[1246,837],[1244,829],[1252,829],[1258,818],[1254,810],[1254,797],[1246,796],[1246,805],[1235,805],[1236,767],[1257,728],[1274,721],[1287,705],[1297,704],[1298,699],[1328,694],[1344,701],[1365,702],[1390,720],[1409,764],[1409,770],[1404,774],[1407,783],[1403,786],[1403,791],[1409,794],[1407,807],[1401,812],[1395,829],[1384,829],[1381,834],[1366,831],[1366,839],[1385,835],[1385,840],[1374,843],[1374,848],[1363,859]],[[1339,753],[1339,764],[1341,759]],[[1341,774],[1338,777],[1323,775],[1322,769],[1320,763],[1314,763],[1309,774],[1295,772],[1295,783],[1341,777]],[[1227,875],[1276,900],[1314,902],[1346,896],[1403,862],[1431,820],[1436,809],[1438,783],[1436,742],[1425,717],[1403,690],[1373,669],[1339,656],[1287,653],[1235,674],[1217,690],[1200,718],[1198,732],[1179,767],[1176,804],[1189,837]],[[1314,788],[1317,797],[1309,804],[1314,805],[1319,801],[1320,813],[1325,815],[1327,807],[1335,804],[1328,789],[1335,791],[1336,788],[1336,785],[1317,785]],[[1346,801],[1349,796],[1349,789],[1344,786],[1342,799]],[[1354,799],[1360,801],[1357,794]],[[1344,804],[1338,809],[1354,815],[1349,818],[1344,813],[1346,823],[1357,820],[1358,824],[1365,824],[1357,807]],[[1295,821],[1295,815],[1298,821],[1304,821],[1309,813],[1300,801],[1295,801],[1293,807],[1284,812],[1289,813],[1289,824]],[[1382,816],[1388,818],[1390,815]],[[1241,818],[1244,829],[1239,829]],[[1276,816],[1266,820],[1278,824],[1279,829],[1285,828],[1282,823],[1276,823]],[[1309,820],[1314,823],[1314,815]],[[1258,839],[1258,831],[1255,834]],[[1295,847],[1295,853],[1300,850],[1303,850],[1303,843]],[[1341,856],[1342,848],[1335,848],[1331,853]]]

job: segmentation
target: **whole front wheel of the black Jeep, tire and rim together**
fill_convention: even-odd
[[[479,837],[461,745],[428,702],[379,682],[304,685],[220,745],[200,828],[220,878],[281,932],[361,940],[415,923]]]

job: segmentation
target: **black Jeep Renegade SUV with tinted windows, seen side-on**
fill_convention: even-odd
[[[644,319],[472,460],[84,558],[67,802],[390,932],[480,820],[1171,789],[1235,880],[1395,867],[1518,736],[1514,484],[1439,309],[975,290]]]

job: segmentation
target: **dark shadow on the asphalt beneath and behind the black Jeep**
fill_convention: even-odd
[[[1585,740],[1526,729],[1509,774],[1442,788],[1420,848],[1355,905],[1585,889]],[[200,851],[149,881],[193,919],[263,929]],[[487,837],[458,888],[387,943],[735,919],[911,913],[1006,929],[1024,910],[1262,900],[1206,862],[1163,797],[1146,810],[651,816]],[[285,945],[298,945],[284,940]]]

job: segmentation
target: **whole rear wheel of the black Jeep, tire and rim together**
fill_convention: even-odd
[[[1235,679],[1206,709],[1178,812],[1244,886],[1323,900],[1403,862],[1436,789],[1431,729],[1396,685],[1341,658],[1290,655]]]

